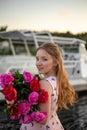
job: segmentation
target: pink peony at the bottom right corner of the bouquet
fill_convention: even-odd
[[[33,121],[42,122],[46,119],[46,114],[43,112],[32,112],[31,117]]]

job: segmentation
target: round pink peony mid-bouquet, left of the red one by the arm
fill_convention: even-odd
[[[39,93],[31,92],[28,96],[28,101],[30,104],[38,104],[39,101]]]

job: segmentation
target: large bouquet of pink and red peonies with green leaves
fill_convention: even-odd
[[[1,92],[6,100],[6,112],[19,123],[42,122],[46,112],[40,112],[40,103],[46,103],[48,92],[40,88],[40,77],[24,71],[0,75]]]

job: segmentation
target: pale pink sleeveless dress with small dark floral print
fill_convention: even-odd
[[[56,93],[56,77],[51,76],[46,78],[45,80],[47,80],[51,84],[53,90],[51,95],[51,110],[48,121],[45,125],[36,122],[22,124],[20,130],[64,130],[56,113],[56,102],[58,98],[58,94]]]

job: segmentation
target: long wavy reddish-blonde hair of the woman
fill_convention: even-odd
[[[58,109],[68,109],[68,104],[73,105],[77,95],[73,86],[69,82],[66,70],[64,68],[61,51],[57,44],[50,42],[42,44],[37,51],[39,49],[44,49],[46,52],[48,52],[52,56],[54,62],[57,64],[55,68],[57,83],[59,86],[57,106]]]

